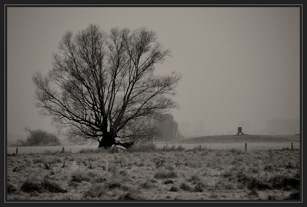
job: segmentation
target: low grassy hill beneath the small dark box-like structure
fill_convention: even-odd
[[[299,142],[300,135],[213,135],[185,139],[184,143]]]

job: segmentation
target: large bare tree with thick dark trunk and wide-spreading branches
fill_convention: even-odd
[[[161,120],[178,107],[172,97],[181,75],[154,73],[171,52],[146,27],[106,33],[90,24],[76,34],[67,31],[58,49],[52,69],[32,76],[35,106],[41,117],[51,116],[53,125],[66,129],[71,142],[98,141],[107,148],[121,131],[146,136],[133,133],[142,129],[140,120]]]

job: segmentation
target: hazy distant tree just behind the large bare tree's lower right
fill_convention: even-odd
[[[161,141],[181,140],[183,135],[179,131],[178,123],[175,121],[173,115],[165,115],[163,121],[153,120],[153,126],[161,132]]]

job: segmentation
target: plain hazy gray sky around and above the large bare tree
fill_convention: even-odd
[[[66,30],[89,23],[157,32],[173,57],[156,72],[182,75],[178,123],[224,132],[244,120],[260,131],[271,118],[300,118],[299,7],[8,7],[8,134],[55,131],[37,115],[31,76],[51,69]]]

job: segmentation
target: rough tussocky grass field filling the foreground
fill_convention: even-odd
[[[155,145],[8,154],[7,199],[297,200],[298,149]]]

